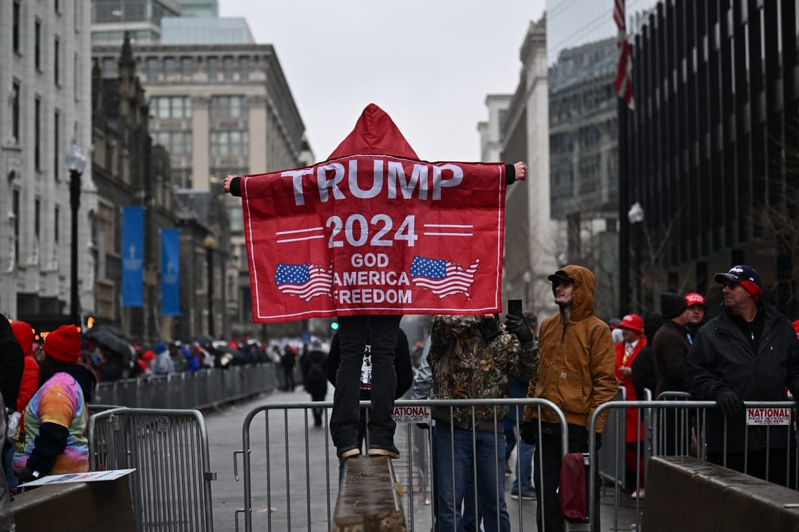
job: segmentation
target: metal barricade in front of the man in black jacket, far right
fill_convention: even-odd
[[[674,392],[669,393],[667,395],[659,395],[658,398],[664,397],[666,399],[679,399],[679,400],[655,400],[655,401],[611,401],[609,403],[604,403],[600,405],[595,411],[594,414],[591,415],[590,424],[589,424],[589,449],[590,451],[590,474],[588,476],[589,482],[589,522],[593,526],[597,522],[597,516],[594,515],[594,474],[598,467],[601,467],[602,460],[598,460],[598,453],[595,451],[595,440],[596,440],[596,424],[600,415],[602,415],[605,411],[614,410],[615,412],[610,413],[608,412],[608,421],[610,421],[611,417],[615,417],[614,427],[616,427],[617,431],[621,431],[621,435],[616,435],[616,441],[619,443],[624,443],[624,415],[626,415],[626,409],[632,408],[637,410],[638,416],[638,423],[642,423],[643,419],[646,419],[647,411],[650,412],[650,423],[652,424],[652,437],[650,444],[653,446],[653,450],[651,455],[688,455],[692,453],[697,456],[698,459],[706,459],[706,445],[707,445],[707,411],[708,409],[718,409],[718,405],[715,401],[694,401],[690,399],[690,395],[683,394],[682,392]],[[799,484],[797,484],[797,478],[799,478],[799,440],[796,438],[796,419],[797,419],[797,403],[793,401],[781,401],[781,402],[767,402],[767,401],[745,401],[744,402],[745,408],[790,408],[793,410],[793,422],[788,427],[787,433],[787,441],[785,442],[785,458],[786,458],[786,470],[785,470],[785,478],[786,478],[786,485],[789,487],[793,487],[793,489],[799,489]],[[673,411],[674,415],[666,415],[668,412]],[[675,423],[676,419],[676,423]],[[727,442],[727,435],[729,433],[729,423],[727,419],[723,419],[723,451],[722,451],[722,460],[719,465],[727,466],[727,452],[728,452],[728,442]],[[745,421],[744,421],[745,423]],[[606,431],[608,425],[606,424]],[[674,447],[666,449],[666,445],[664,441],[666,440],[666,432],[671,428],[674,428]],[[692,429],[695,435],[696,447],[695,449],[692,448],[691,442],[691,435]],[[765,441],[765,470],[769,470],[769,456],[771,455],[770,448],[770,433],[771,427],[766,426],[765,434],[766,434],[766,441]],[[645,435],[647,431],[645,431]],[[671,435],[668,435],[668,439],[671,439]],[[660,442],[658,443],[658,440]],[[793,444],[792,444],[793,440]],[[602,442],[606,441],[606,434],[603,433],[602,435]],[[781,442],[780,442],[781,443]],[[636,445],[636,463],[640,462],[642,455],[644,455],[647,459],[649,458],[650,454],[646,452],[645,445],[648,445],[645,441],[638,441]],[[668,451],[668,453],[666,453]],[[773,452],[782,452],[781,447],[777,447]],[[746,457],[749,455],[749,425],[745,425],[744,430],[744,450],[742,451],[744,456],[744,473],[747,472],[746,470]],[[599,462],[599,463],[598,463]],[[792,464],[793,462],[793,464]],[[614,465],[614,478],[618,478],[620,474],[623,474],[620,471],[623,468],[624,462],[616,463]],[[791,472],[793,470],[793,477]],[[645,474],[645,471],[637,471],[636,472],[636,486],[638,486],[638,481],[640,480],[640,475]],[[766,472],[768,475],[768,472]],[[620,505],[620,483],[614,483],[614,526],[610,530],[623,530],[619,528],[618,518],[619,518],[619,507]],[[641,506],[640,500],[636,498],[635,502],[635,516],[636,516],[636,530],[641,530]],[[594,526],[592,530],[598,530],[598,527]]]

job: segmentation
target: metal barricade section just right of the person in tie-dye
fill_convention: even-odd
[[[115,408],[89,418],[91,470],[133,469],[136,528],[213,530],[208,434],[196,410]]]

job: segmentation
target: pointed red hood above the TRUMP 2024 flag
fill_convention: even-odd
[[[328,161],[349,155],[392,155],[419,160],[392,117],[373,103],[360,113],[355,129],[333,150]]]

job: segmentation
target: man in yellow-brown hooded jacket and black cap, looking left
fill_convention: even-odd
[[[582,266],[564,266],[549,276],[552,295],[560,312],[550,316],[539,329],[539,371],[530,379],[527,397],[548,399],[566,415],[569,452],[588,452],[588,423],[594,410],[616,396],[614,375],[616,355],[610,328],[594,316],[594,274]],[[560,427],[555,415],[526,407],[522,437],[538,443],[533,457],[536,467],[535,493],[539,500],[536,522],[539,532],[563,530],[558,502],[561,466]],[[607,415],[597,423],[597,448]],[[542,467],[539,467],[542,464]],[[598,471],[599,468],[597,467]],[[599,482],[595,482],[594,515],[598,525]],[[599,530],[599,527],[595,527]]]

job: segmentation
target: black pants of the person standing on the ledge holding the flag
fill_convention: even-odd
[[[392,419],[397,378],[394,350],[400,334],[402,316],[341,316],[339,335],[341,361],[336,374],[336,392],[330,415],[330,435],[337,449],[358,446],[360,420],[360,367],[364,344],[372,345],[372,411],[369,416],[369,442],[393,445],[396,423]]]

